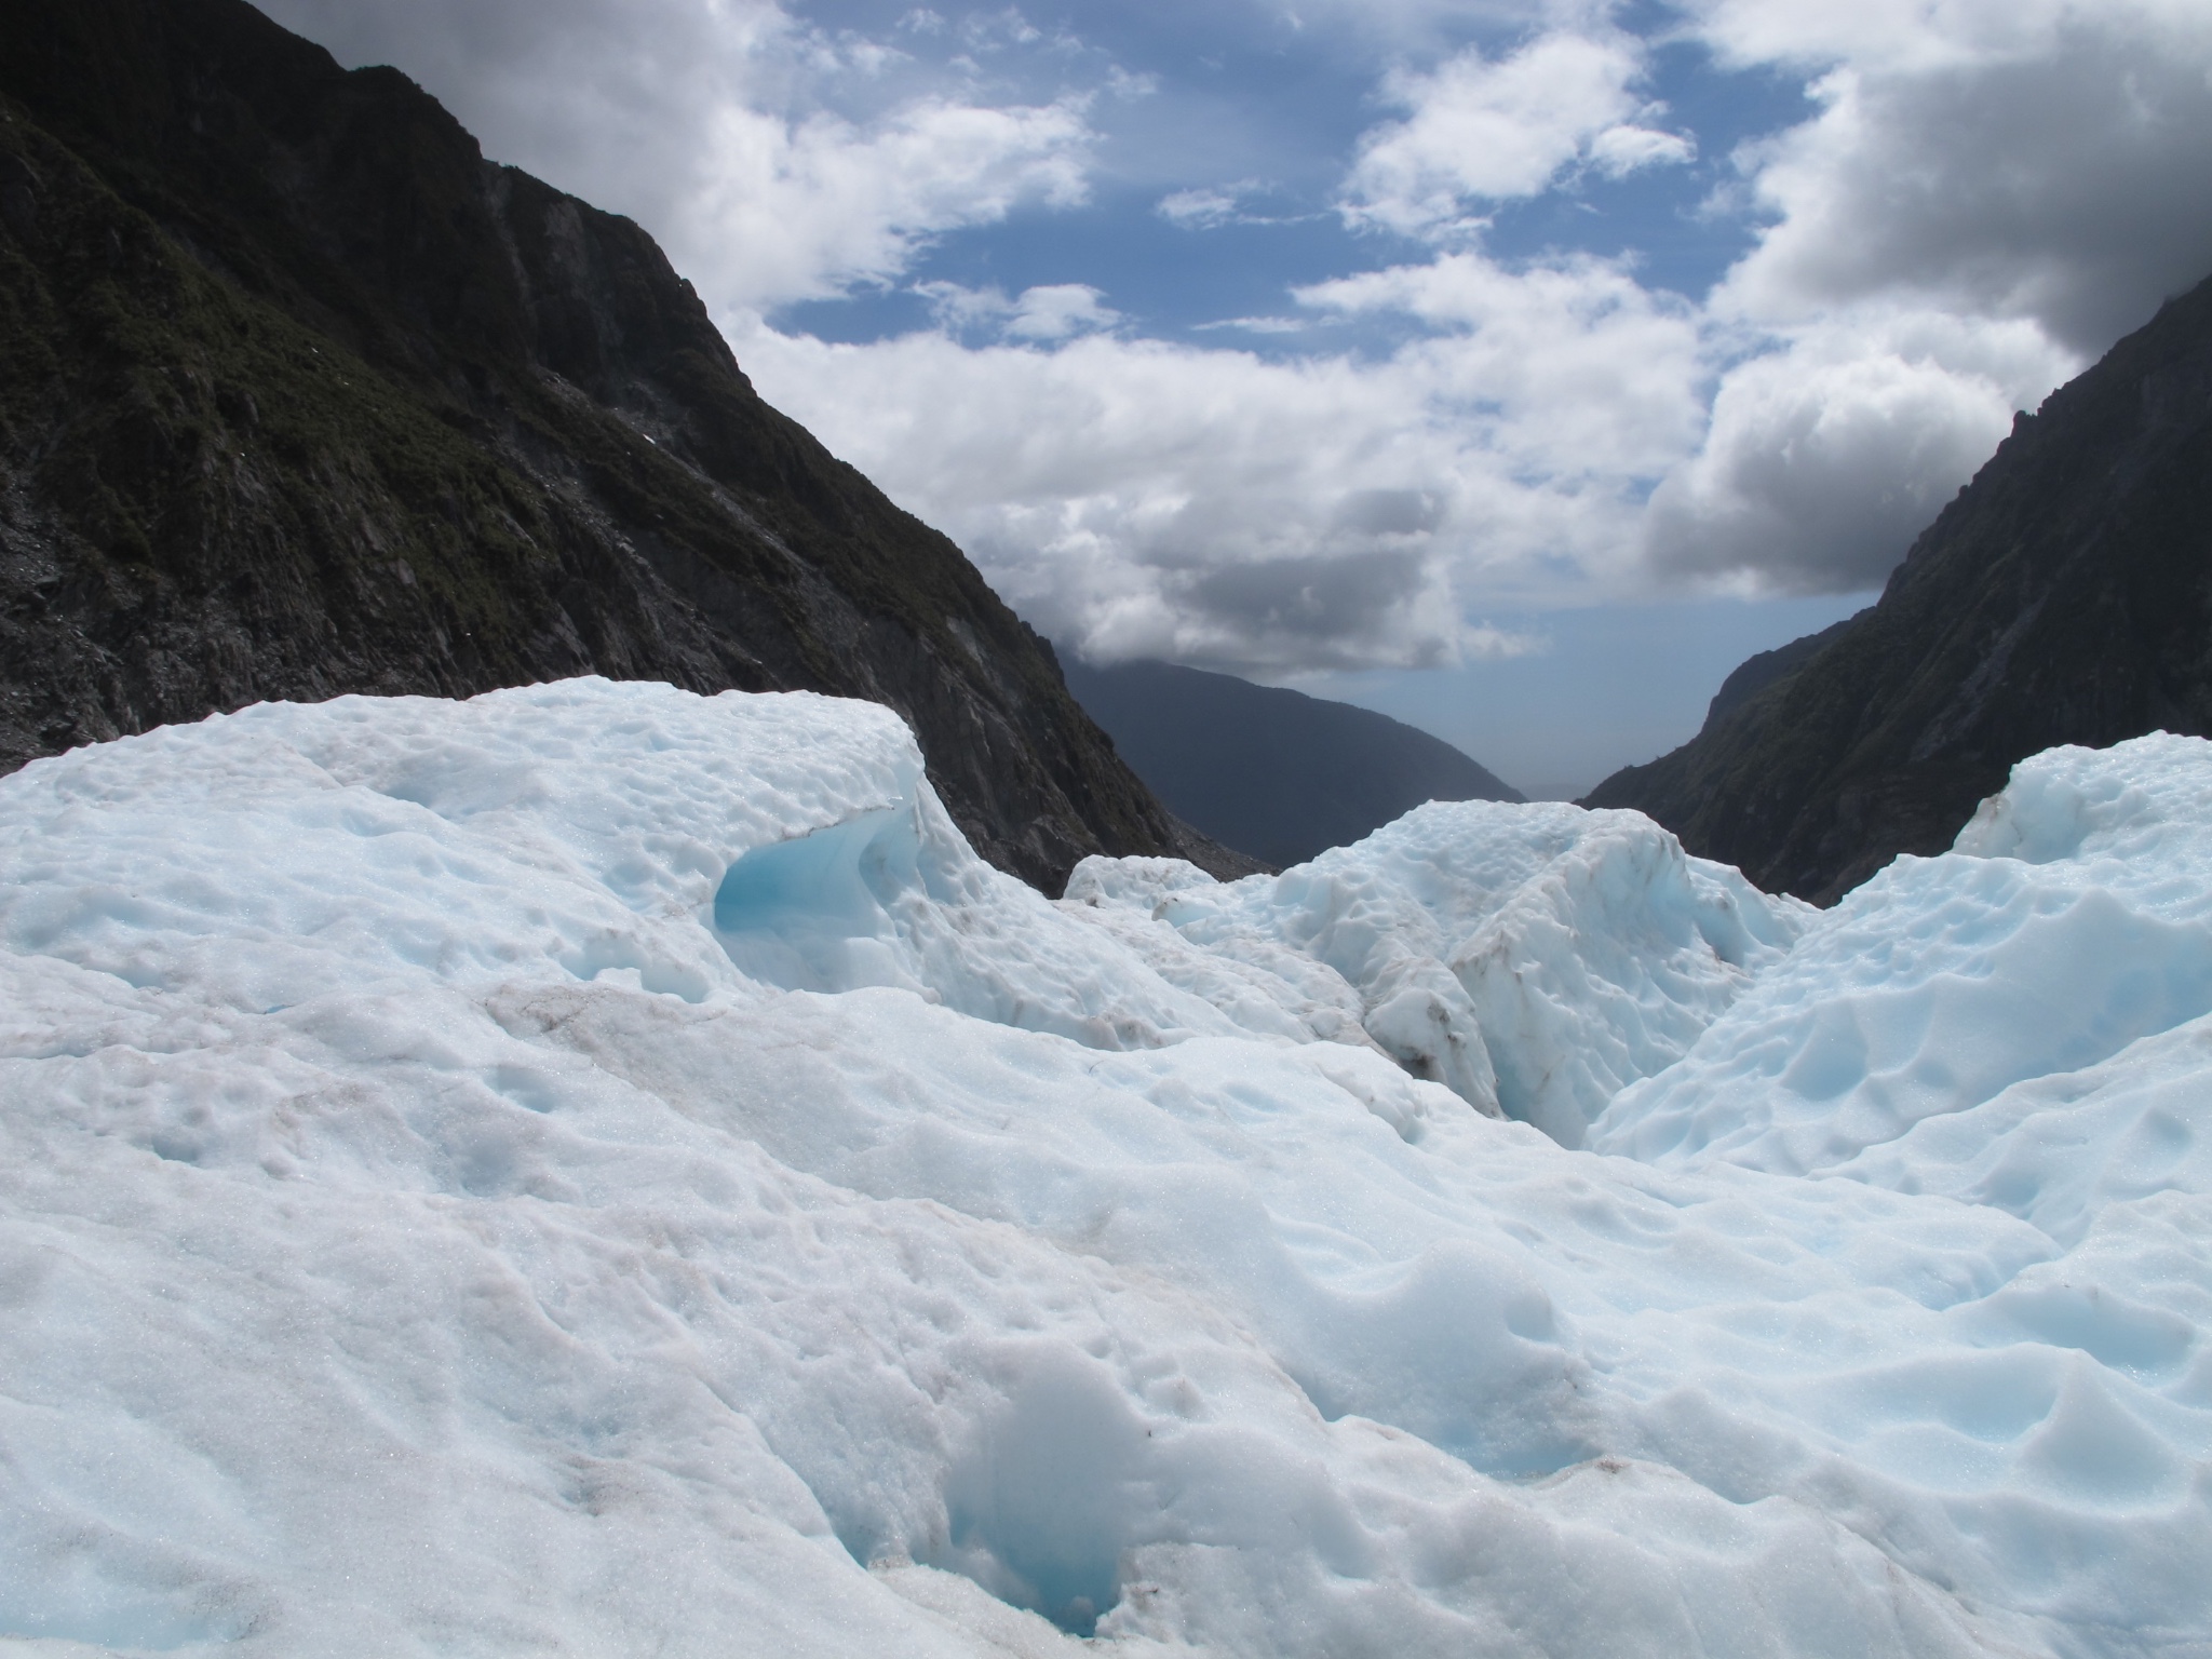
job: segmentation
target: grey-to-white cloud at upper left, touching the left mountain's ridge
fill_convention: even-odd
[[[268,9],[343,62],[405,62],[489,155],[650,226],[717,310],[896,281],[936,234],[1088,195],[1086,93],[973,97],[774,0]],[[964,29],[971,49],[1060,49],[1013,9]]]

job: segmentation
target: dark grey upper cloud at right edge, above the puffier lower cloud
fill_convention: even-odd
[[[2212,27],[2150,22],[2115,2],[1986,58],[1823,75],[1820,115],[1752,157],[1774,226],[1721,303],[1909,294],[2101,352],[2212,270]]]

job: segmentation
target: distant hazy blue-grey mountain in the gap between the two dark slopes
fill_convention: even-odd
[[[1276,869],[1422,801],[1520,801],[1427,732],[1352,703],[1161,661],[1091,668],[1068,690],[1183,821]]]

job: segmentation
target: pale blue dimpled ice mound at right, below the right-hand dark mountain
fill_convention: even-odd
[[[1832,1170],[1913,1124],[2212,1013],[2201,739],[2022,761],[1940,858],[1898,858],[1761,975],[1593,1146]]]

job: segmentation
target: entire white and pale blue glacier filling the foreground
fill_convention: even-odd
[[[0,1655],[2212,1655],[2212,743],[984,865],[887,710],[0,779]]]

